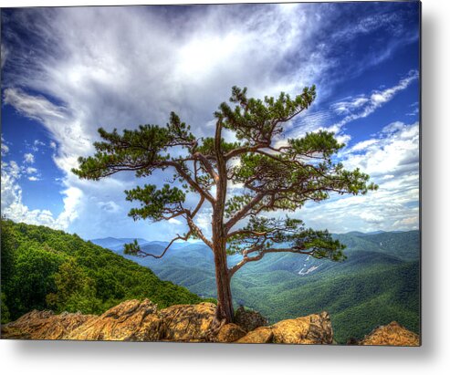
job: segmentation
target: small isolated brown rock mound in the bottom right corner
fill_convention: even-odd
[[[396,347],[420,346],[419,335],[404,328],[396,321],[387,326],[380,326],[372,330],[369,335],[361,339],[359,345],[392,345]]]

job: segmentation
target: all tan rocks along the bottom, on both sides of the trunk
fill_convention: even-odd
[[[80,339],[124,341],[183,341],[247,344],[332,344],[333,330],[326,312],[281,320],[251,328],[263,318],[254,312],[237,324],[215,322],[215,305],[175,305],[158,310],[148,299],[122,302],[100,316],[80,313],[55,315],[31,311],[2,326],[2,339]],[[242,316],[241,316],[242,318]],[[419,337],[398,323],[376,328],[358,344],[418,346]]]

